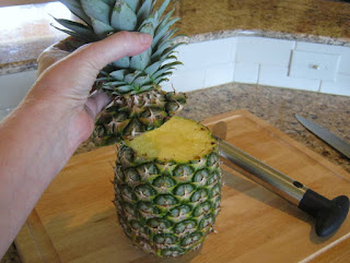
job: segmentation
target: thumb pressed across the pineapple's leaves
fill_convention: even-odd
[[[147,50],[151,43],[151,35],[119,32],[101,41],[88,44],[50,69],[50,83],[60,86],[61,91],[84,94],[88,97],[96,75],[106,64],[139,55]]]

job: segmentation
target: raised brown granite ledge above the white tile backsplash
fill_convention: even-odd
[[[21,15],[19,15],[21,14]],[[0,8],[0,75],[36,68],[38,55],[66,37],[59,2]],[[350,3],[336,0],[180,0],[176,15],[189,41],[237,35],[350,46]]]

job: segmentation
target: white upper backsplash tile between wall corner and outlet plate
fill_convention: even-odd
[[[264,37],[237,37],[236,62],[288,65],[293,40]]]

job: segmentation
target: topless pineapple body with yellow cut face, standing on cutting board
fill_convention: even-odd
[[[200,247],[219,213],[221,171],[210,131],[173,117],[118,146],[115,205],[133,244],[159,256]]]

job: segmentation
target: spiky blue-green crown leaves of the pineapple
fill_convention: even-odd
[[[174,56],[184,43],[172,28],[179,20],[173,17],[175,9],[165,10],[171,1],[163,0],[59,0],[82,23],[55,19],[65,28],[56,28],[81,39],[83,44],[101,40],[120,31],[147,33],[153,36],[152,46],[144,52],[119,59],[105,67],[97,79],[97,87],[113,95],[137,94],[167,81],[173,70],[182,64]]]

